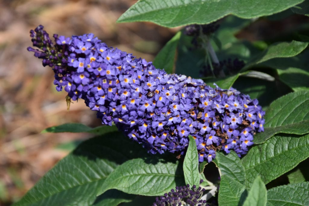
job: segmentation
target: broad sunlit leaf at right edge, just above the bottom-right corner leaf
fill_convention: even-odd
[[[265,184],[290,171],[309,157],[309,134],[276,135],[264,144],[252,147],[241,159],[247,188],[260,175]]]

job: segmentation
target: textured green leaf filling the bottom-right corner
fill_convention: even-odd
[[[288,184],[267,191],[267,205],[309,205],[309,182]]]

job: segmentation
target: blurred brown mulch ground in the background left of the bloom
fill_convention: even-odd
[[[30,29],[42,24],[50,37],[94,33],[108,46],[152,61],[173,30],[152,23],[116,24],[135,0],[0,0],[0,205],[19,200],[69,153],[59,146],[87,134],[40,134],[67,122],[99,126],[83,101],[66,111],[53,72],[26,48]],[[175,30],[176,31],[176,30]]]

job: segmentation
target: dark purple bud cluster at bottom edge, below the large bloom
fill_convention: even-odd
[[[203,180],[200,181],[202,183]],[[204,188],[193,185],[192,189],[187,184],[186,186],[176,187],[171,189],[171,192],[165,193],[163,196],[156,197],[153,206],[166,206],[166,205],[198,205],[206,206],[206,200],[200,200],[205,192]]]

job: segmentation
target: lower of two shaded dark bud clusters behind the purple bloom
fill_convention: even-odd
[[[225,74],[235,74],[239,72],[245,63],[243,60],[235,59],[227,59],[220,61],[219,64],[212,62],[212,68],[209,64],[203,66],[203,69],[200,71],[200,76],[219,76],[220,72],[223,71]],[[213,70],[212,70],[213,69]]]

